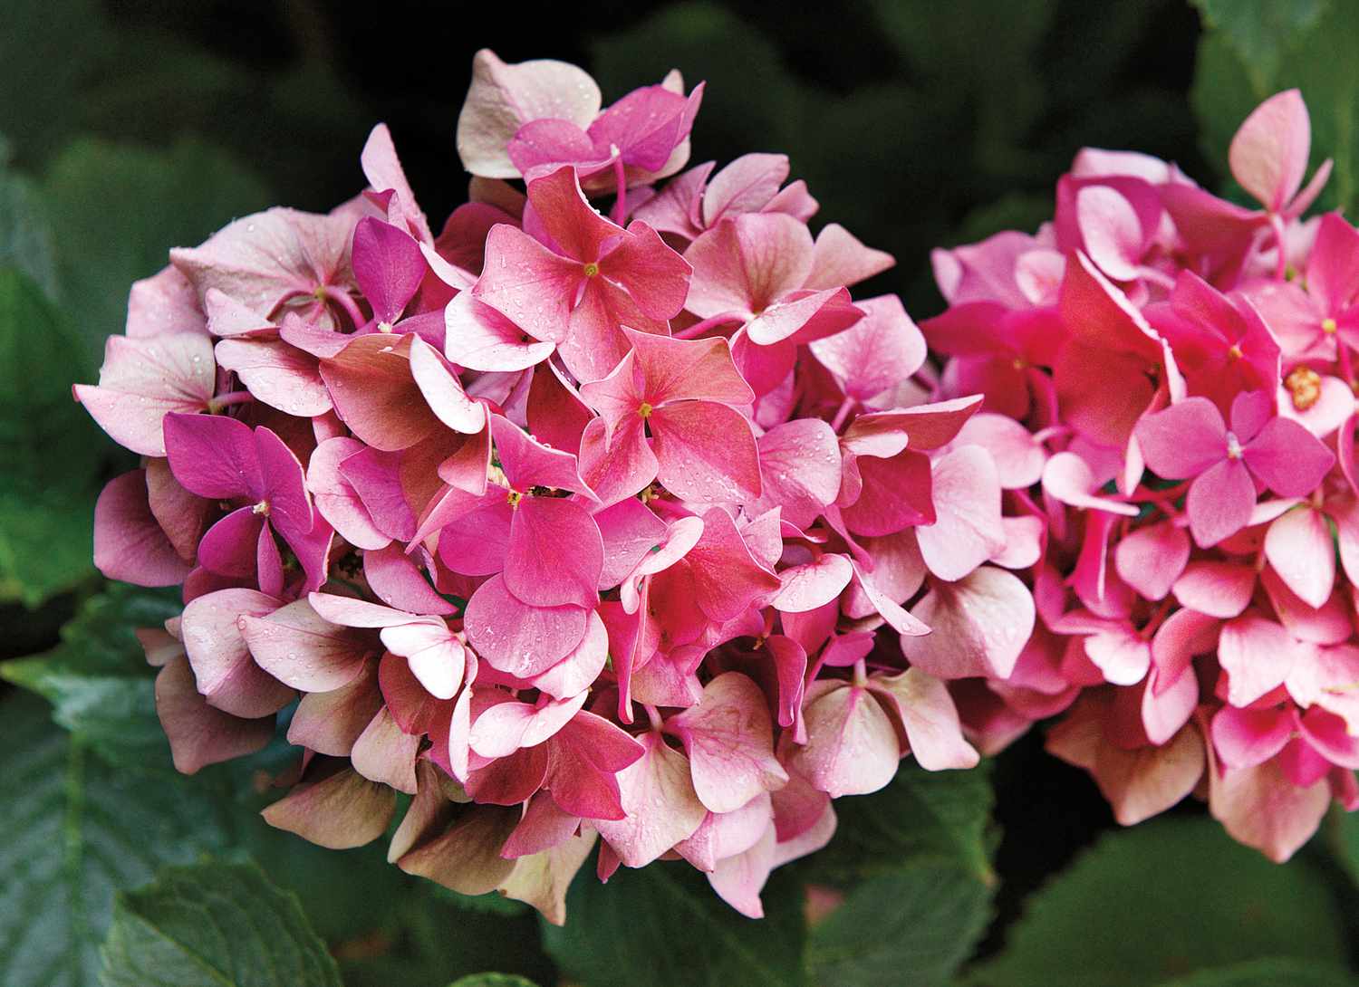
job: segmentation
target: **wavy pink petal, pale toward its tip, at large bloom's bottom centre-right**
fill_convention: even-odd
[[[788,774],[773,756],[773,724],[764,692],[739,672],[709,682],[697,705],[666,722],[684,743],[693,787],[709,812],[734,812]]]

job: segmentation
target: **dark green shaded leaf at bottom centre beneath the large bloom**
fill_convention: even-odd
[[[786,870],[761,895],[764,919],[731,910],[693,868],[620,868],[603,885],[586,866],[567,895],[567,925],[544,925],[544,945],[590,987],[798,987],[806,931],[802,892]]]

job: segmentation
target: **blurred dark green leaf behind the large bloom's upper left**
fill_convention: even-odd
[[[269,202],[243,164],[190,140],[169,151],[77,140],[52,163],[43,190],[61,231],[63,301],[79,312],[95,362],[105,337],[124,330],[133,281],[166,266],[171,247],[201,243]]]

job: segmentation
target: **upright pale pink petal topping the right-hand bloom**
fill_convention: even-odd
[[[1311,122],[1298,90],[1257,106],[1231,138],[1231,175],[1271,212],[1283,212],[1302,185],[1311,149]]]

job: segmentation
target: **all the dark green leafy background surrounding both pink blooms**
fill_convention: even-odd
[[[1146,151],[1219,187],[1238,122],[1288,86],[1303,90],[1318,160],[1336,159],[1322,205],[1359,200],[1356,0],[469,11],[4,4],[0,983],[1354,983],[1352,819],[1286,868],[1196,805],[1116,831],[1037,734],[981,770],[905,766],[885,792],[840,802],[836,840],[775,874],[762,923],[659,865],[607,887],[583,873],[571,923],[552,929],[410,878],[381,844],[325,851],[268,830],[255,812],[281,743],[174,774],[132,635],[174,612],[174,595],[92,570],[94,500],[132,460],[69,387],[95,380],[129,284],[170,246],[273,202],[323,210],[355,194],[375,121],[427,212],[450,212],[466,191],[453,129],[477,48],[575,61],[609,99],[670,67],[707,79],[694,162],[787,152],[822,221],[897,255],[868,293],[900,292],[917,318],[942,307],[930,247],[1036,227],[1079,147]],[[251,963],[264,949],[268,969]],[[491,969],[504,976],[478,976]]]

